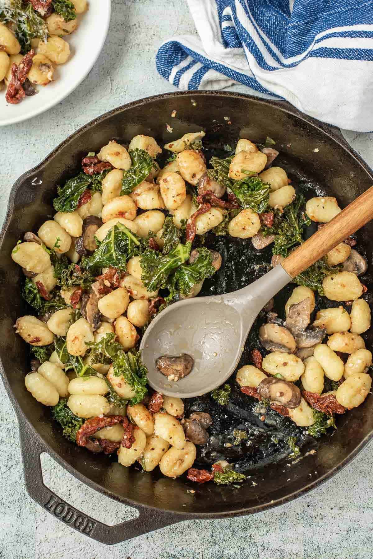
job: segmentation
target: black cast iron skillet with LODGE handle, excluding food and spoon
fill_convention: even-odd
[[[175,118],[170,116],[173,110]],[[166,123],[173,127],[172,134],[166,130]],[[270,135],[278,141],[281,153],[293,168],[324,185],[342,207],[373,181],[371,170],[339,130],[302,115],[290,105],[237,93],[180,92],[136,101],[99,117],[71,135],[15,183],[0,237],[0,358],[4,385],[20,423],[26,487],[31,497],[55,517],[103,543],[121,542],[180,520],[239,516],[286,503],[338,472],[373,436],[373,397],[369,395],[363,405],[341,416],[333,436],[318,439],[314,445],[317,452],[291,465],[286,476],[282,473],[283,465],[272,463],[258,471],[259,475],[251,471],[250,482],[241,489],[214,484],[196,487],[184,480],[161,477],[159,473],[145,475],[123,468],[101,454],[90,454],[73,446],[52,427],[49,410],[26,392],[28,347],[13,330],[17,317],[27,312],[20,297],[20,267],[10,258],[17,240],[25,231],[37,230],[46,216],[52,215],[55,185],[76,172],[88,151],[98,151],[113,138],[130,141],[136,134],[155,136],[164,144],[201,128],[208,131],[210,140],[217,142],[238,137],[262,141]],[[370,264],[372,236],[371,222],[365,226],[360,240],[365,244]],[[42,452],[49,453],[90,487],[134,506],[140,516],[111,527],[80,513],[44,485]],[[191,494],[187,489],[196,491]]]

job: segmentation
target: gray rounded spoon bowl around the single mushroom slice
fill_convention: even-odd
[[[180,398],[210,392],[237,366],[245,342],[242,336],[240,312],[224,297],[198,297],[170,305],[152,320],[141,340],[150,386],[166,396]],[[176,382],[168,380],[156,368],[156,359],[181,353],[193,357],[193,369]]]

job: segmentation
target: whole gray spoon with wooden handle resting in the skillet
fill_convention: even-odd
[[[373,187],[251,285],[226,295],[185,299],[166,307],[151,321],[140,344],[150,386],[181,398],[220,386],[237,367],[251,326],[271,297],[372,218]],[[155,361],[164,354],[181,353],[193,357],[192,372],[177,382],[169,381]]]

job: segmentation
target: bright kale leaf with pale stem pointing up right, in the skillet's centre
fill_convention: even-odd
[[[184,264],[190,255],[192,243],[179,243],[169,254],[147,249],[141,255],[141,280],[149,291],[167,287],[168,277],[175,268]]]

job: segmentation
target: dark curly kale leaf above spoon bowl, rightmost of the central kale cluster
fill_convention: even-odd
[[[207,248],[198,247],[198,257],[192,264],[180,264],[170,277],[166,287],[170,292],[188,295],[196,283],[213,276],[216,272],[212,266],[212,260],[213,255]]]

